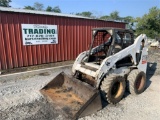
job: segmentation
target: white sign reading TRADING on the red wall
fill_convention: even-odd
[[[57,25],[22,24],[23,45],[58,44]]]

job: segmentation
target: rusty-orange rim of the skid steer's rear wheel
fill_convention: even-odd
[[[144,86],[144,77],[142,75],[137,77],[135,85],[136,85],[136,89],[138,91],[140,91],[143,88],[143,86]]]

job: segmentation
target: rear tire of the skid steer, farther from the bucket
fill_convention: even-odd
[[[137,69],[132,70],[128,75],[129,92],[137,95],[141,94],[146,87],[146,74]]]

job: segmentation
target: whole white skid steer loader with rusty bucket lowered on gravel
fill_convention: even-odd
[[[134,40],[131,30],[93,29],[88,51],[76,58],[72,76],[60,73],[42,90],[55,115],[77,119],[102,109],[101,96],[118,103],[126,88],[137,95],[144,91],[147,68],[147,37]]]

